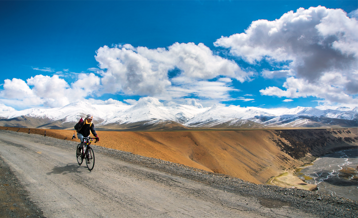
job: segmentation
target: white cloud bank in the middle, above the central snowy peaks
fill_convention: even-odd
[[[229,92],[236,90],[230,84],[232,79],[244,82],[252,76],[202,43],[174,43],[156,49],[104,46],[95,58],[102,69],[103,93],[147,95],[165,101],[190,95],[226,100]],[[168,72],[174,69],[179,73],[169,77]],[[218,76],[224,78],[208,81]]]

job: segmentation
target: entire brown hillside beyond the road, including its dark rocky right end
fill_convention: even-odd
[[[29,129],[0,127],[28,132]],[[30,133],[72,139],[72,130],[30,129]],[[286,169],[304,164],[312,155],[357,147],[357,129],[238,131],[97,131],[96,145],[129,151],[194,168],[265,183]],[[78,141],[74,139],[72,141]]]

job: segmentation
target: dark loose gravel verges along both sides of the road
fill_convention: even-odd
[[[0,130],[0,134],[3,131],[4,130]],[[13,132],[13,134],[26,133]],[[75,152],[75,148],[78,144],[77,142],[59,140],[36,134],[26,135],[31,137],[34,142],[61,147],[73,152]],[[358,217],[358,203],[353,200],[294,188],[256,185],[232,176],[211,173],[160,159],[147,158],[126,151],[108,149],[106,147],[96,146],[94,143],[92,144],[92,148],[95,154],[98,152],[129,163],[188,178],[226,192],[256,197],[260,200],[263,207],[275,208],[290,206],[319,215],[320,217]],[[1,161],[0,164],[1,217],[42,217],[41,211],[27,198],[24,187],[18,183],[6,163]]]

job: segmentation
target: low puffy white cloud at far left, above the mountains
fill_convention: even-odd
[[[5,79],[0,91],[1,101],[8,105],[30,107],[62,107],[76,100],[96,93],[100,87],[100,78],[95,74],[78,74],[78,79],[68,84],[59,75],[36,75],[26,82],[22,79]]]

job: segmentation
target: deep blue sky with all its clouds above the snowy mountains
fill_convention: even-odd
[[[356,106],[357,8],[357,1],[0,1],[0,103]]]

